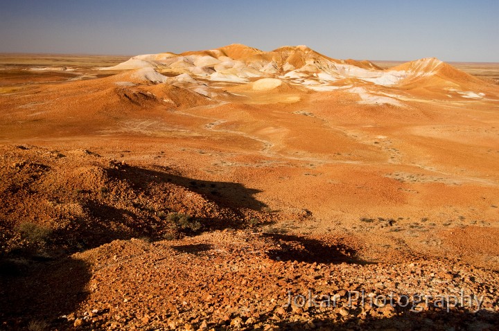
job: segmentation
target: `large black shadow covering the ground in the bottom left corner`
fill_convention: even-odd
[[[67,328],[61,316],[75,311],[88,295],[91,274],[82,260],[4,259],[0,269],[0,330]]]

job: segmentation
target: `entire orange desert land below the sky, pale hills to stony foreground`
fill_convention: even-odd
[[[1,54],[0,150],[0,330],[499,328],[499,64]]]

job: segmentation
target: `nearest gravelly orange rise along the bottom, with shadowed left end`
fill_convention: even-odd
[[[37,321],[57,330],[498,327],[496,272],[424,258],[369,263],[341,242],[234,230],[115,240],[32,262],[24,279],[8,278],[3,328]]]

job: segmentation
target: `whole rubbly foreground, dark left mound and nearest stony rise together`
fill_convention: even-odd
[[[230,206],[223,184],[88,150],[2,155],[0,330],[499,326],[497,271],[380,257],[347,233],[269,232],[310,215]]]

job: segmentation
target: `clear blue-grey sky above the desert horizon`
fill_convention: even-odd
[[[499,62],[499,1],[0,0],[0,53],[307,45],[338,59]]]

